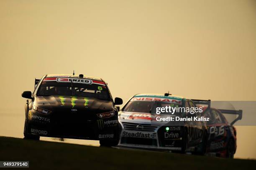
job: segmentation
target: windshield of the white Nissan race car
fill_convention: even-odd
[[[156,114],[157,107],[179,107],[180,105],[170,103],[170,102],[161,102],[161,101],[134,101],[130,100],[127,105],[123,108],[124,112],[142,112],[142,113],[151,113]],[[165,115],[179,115],[176,111],[173,112],[161,112],[160,114]]]

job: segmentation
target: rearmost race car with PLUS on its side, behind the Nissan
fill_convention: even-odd
[[[201,115],[210,120],[207,121],[207,153],[222,158],[234,158],[237,146],[236,128],[233,125],[242,119],[243,110],[215,109],[210,107],[210,101],[207,100],[194,100],[194,102],[198,107],[206,105]],[[233,115],[235,119],[229,123],[225,115]]]

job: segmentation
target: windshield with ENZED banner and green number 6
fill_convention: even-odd
[[[61,81],[61,78],[48,79],[45,78],[41,83],[37,92],[38,96],[65,95],[110,100],[110,94],[104,82],[94,83],[93,80],[74,78],[62,78],[65,81]]]

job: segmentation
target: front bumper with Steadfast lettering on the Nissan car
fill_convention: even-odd
[[[129,124],[132,125],[132,123]],[[131,125],[128,127],[125,122],[120,122],[122,130],[118,146],[149,150],[182,150],[182,127],[179,127],[178,130],[165,132],[165,126],[163,125],[151,126],[154,128],[151,128],[150,125],[144,125],[146,126],[144,130],[135,130],[134,128],[132,130]],[[171,135],[176,133],[178,134],[177,136],[175,135],[176,138],[172,138]]]

